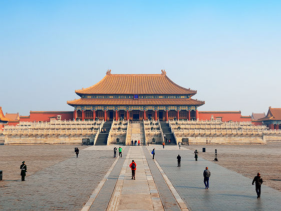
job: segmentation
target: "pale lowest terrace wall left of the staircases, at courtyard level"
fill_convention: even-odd
[[[95,135],[88,136],[5,136],[4,144],[82,144],[84,138],[94,138]]]

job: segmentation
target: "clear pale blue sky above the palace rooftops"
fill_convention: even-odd
[[[112,73],[161,73],[201,111],[281,107],[281,1],[1,1],[4,113],[73,111]]]

